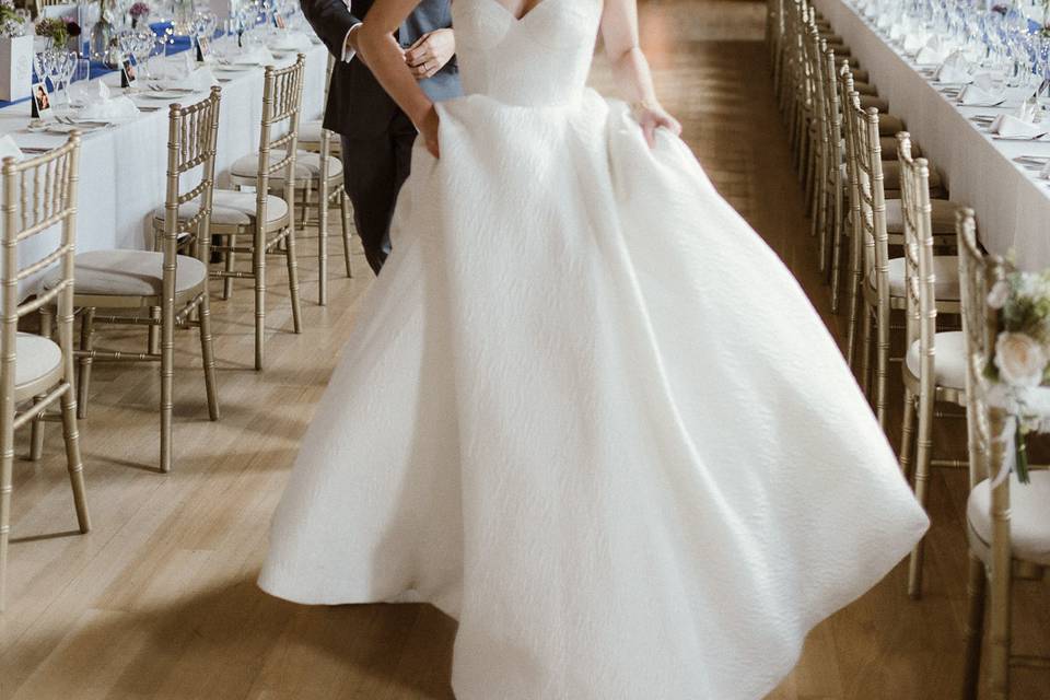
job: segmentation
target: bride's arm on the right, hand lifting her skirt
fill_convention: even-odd
[[[655,131],[660,127],[670,129],[675,136],[681,133],[681,125],[656,100],[649,61],[639,46],[637,0],[606,0],[602,38],[612,63],[616,84],[623,91],[623,97],[634,105],[649,144],[655,143]]]

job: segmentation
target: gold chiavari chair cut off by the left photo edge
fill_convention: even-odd
[[[91,528],[84,494],[77,397],[73,392],[73,256],[77,241],[77,185],[80,136],[44,155],[16,162],[3,160],[3,279],[0,298],[0,610],[7,580],[11,523],[14,431],[44,418],[60,401],[66,466],[73,489],[80,532]],[[19,244],[58,228],[55,249],[36,262],[19,267]],[[56,283],[21,303],[19,283],[57,266]],[[58,307],[58,343],[46,335],[19,332],[19,319],[46,304]],[[35,440],[34,440],[35,444]],[[36,452],[36,450],[34,450]],[[34,457],[38,457],[38,453]]]

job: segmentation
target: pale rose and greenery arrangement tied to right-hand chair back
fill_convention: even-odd
[[[1017,419],[1016,470],[1028,482],[1025,436],[1047,428],[1043,410],[1034,410],[1028,389],[1050,384],[1050,271],[1012,272],[996,282],[988,305],[999,311],[999,328],[989,378],[1005,389],[1010,410]]]

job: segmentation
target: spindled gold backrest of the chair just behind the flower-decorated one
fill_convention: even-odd
[[[936,273],[933,268],[933,226],[930,205],[930,166],[911,155],[911,136],[897,135],[900,162],[900,208],[905,229],[906,348],[919,341],[919,377],[924,390],[934,387],[936,336]]]

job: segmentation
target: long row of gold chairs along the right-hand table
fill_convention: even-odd
[[[1002,464],[1004,453],[996,441],[1002,440],[999,428],[1006,417],[984,401],[988,380],[982,368],[994,341],[988,329],[994,328],[995,313],[985,298],[988,280],[1005,275],[1006,266],[981,253],[973,212],[945,197],[941,178],[919,156],[903,122],[888,114],[889,105],[875,95],[841,37],[806,0],[770,0],[767,35],[774,89],[789,126],[793,163],[805,184],[812,231],[818,236],[818,267],[828,273],[835,312],[840,311],[843,242],[849,241],[847,360],[855,363],[859,342],[861,385],[884,430],[889,364],[900,361],[900,463],[923,506],[933,467],[969,469],[970,616],[964,697],[977,697],[987,569],[992,581],[989,687],[993,698],[1005,699],[1011,665],[1047,667],[1045,660],[1010,651],[1012,562],[1039,575],[1050,565],[1050,515],[1045,508],[1050,474],[1037,471],[1031,485],[1014,489],[1012,513],[1004,508],[1011,479],[993,489],[988,478],[999,474]],[[891,249],[900,255],[891,257]],[[891,325],[895,320],[902,320],[902,328]],[[903,330],[898,358],[890,355],[891,329]],[[967,459],[933,457],[938,406],[966,410]],[[921,595],[922,570],[920,541],[909,562],[908,592],[913,598]]]

